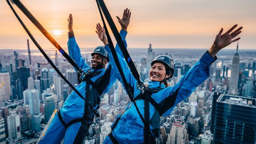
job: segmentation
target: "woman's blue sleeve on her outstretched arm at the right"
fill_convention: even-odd
[[[173,103],[174,100],[174,105],[163,115],[170,115],[171,111],[178,103],[190,96],[197,86],[203,83],[205,79],[208,79],[210,75],[210,65],[215,60],[217,60],[217,57],[215,56],[215,58],[213,58],[207,51],[181,78],[178,84],[165,89],[164,93],[167,94],[167,97],[174,96],[176,99],[169,98],[171,101],[167,101],[167,103]]]

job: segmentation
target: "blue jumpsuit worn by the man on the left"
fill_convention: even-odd
[[[126,34],[126,31],[120,31],[121,38],[127,46],[125,40]],[[116,45],[116,49],[119,49],[118,45]],[[99,72],[99,74],[92,77],[91,80],[96,84],[101,85],[100,93],[108,92],[112,84],[116,81],[113,68],[108,65],[106,70],[92,69],[92,67],[87,65],[87,63],[81,56],[80,48],[75,41],[75,37],[69,37],[68,51],[70,57],[74,59],[77,65],[85,72],[87,72],[88,70],[92,70],[91,72]],[[118,53],[120,52],[121,51],[119,50]],[[80,92],[80,94],[82,94],[82,96],[85,96],[85,86],[85,81],[81,82],[79,85],[76,86],[76,89]],[[90,86],[89,102],[94,107],[94,109],[96,109],[100,103],[100,95],[101,94],[98,94],[98,92],[95,91],[92,86]],[[82,143],[94,118],[94,113],[92,112],[92,110],[90,108],[85,110],[85,107],[85,101],[80,98],[75,91],[72,91],[63,106],[60,108],[60,114],[63,118],[63,121],[68,124],[68,122],[70,122],[71,120],[83,118],[83,116],[85,116],[86,122],[77,122],[73,125],[70,125],[66,129],[65,126],[60,122],[58,115],[56,114],[40,144],[60,144],[63,138],[63,144]]]

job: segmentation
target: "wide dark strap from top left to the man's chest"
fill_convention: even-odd
[[[61,46],[46,31],[46,29],[44,29],[44,27],[36,20],[36,18],[29,12],[29,10],[27,10],[27,8],[22,4],[22,2],[20,2],[19,0],[11,0],[11,1],[13,4],[17,5],[19,10],[21,10],[27,16],[27,18],[37,27],[37,29],[39,29],[39,31],[41,31],[41,33],[53,44],[53,46],[55,46],[59,50],[59,52],[68,60],[68,62],[70,62],[70,64],[73,67],[75,67],[77,69],[78,72],[85,73],[82,71],[82,69],[80,69],[80,67],[75,63],[75,61],[72,60],[72,58],[70,58],[68,53],[66,53],[65,50],[63,50],[63,48],[61,48]]]

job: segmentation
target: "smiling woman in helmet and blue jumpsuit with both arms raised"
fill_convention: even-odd
[[[240,38],[235,38],[241,33],[242,27],[232,32],[237,27],[237,24],[229,29],[225,34],[222,34],[223,29],[217,34],[213,46],[200,58],[198,62],[181,78],[179,83],[173,87],[167,87],[166,79],[173,76],[174,65],[172,59],[167,55],[156,57],[151,63],[149,89],[157,89],[155,93],[150,94],[156,103],[150,102],[150,133],[151,137],[145,137],[144,124],[135,109],[134,103],[130,103],[126,110],[117,115],[116,122],[112,125],[112,132],[106,137],[104,144],[122,143],[122,144],[138,144],[138,143],[152,143],[155,137],[159,137],[159,118],[160,116],[170,115],[174,107],[191,95],[198,85],[209,77],[210,65],[217,59],[216,54],[222,48],[225,48],[230,43],[238,41]],[[105,45],[105,50],[109,53],[110,63],[113,66],[116,78],[123,84],[120,73],[117,70],[113,55],[108,46],[108,41],[104,28],[97,26],[97,34]],[[137,81],[130,72],[123,55],[118,54],[123,73],[127,82],[133,89],[135,99],[141,96],[141,91],[137,89]],[[142,116],[144,116],[144,102],[145,100],[138,98],[137,106]],[[150,142],[147,142],[150,139]]]

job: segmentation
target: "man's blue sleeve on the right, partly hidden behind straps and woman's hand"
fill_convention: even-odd
[[[120,36],[123,40],[124,45],[127,48],[127,43],[126,43],[126,39],[125,39],[126,35],[127,35],[127,31],[121,30],[119,34],[120,34]],[[116,53],[118,53],[119,55],[123,55],[121,50],[120,50],[120,47],[118,46],[117,43],[116,43]],[[116,82],[116,76],[114,74],[114,69],[111,66],[111,62],[109,62],[109,65],[106,68],[106,73],[109,74],[109,76],[107,76],[107,77],[110,77],[110,79],[109,79],[109,84],[106,86],[106,89],[104,89],[103,93],[107,93],[109,91],[109,89],[111,88],[111,86],[114,84],[114,82]]]

